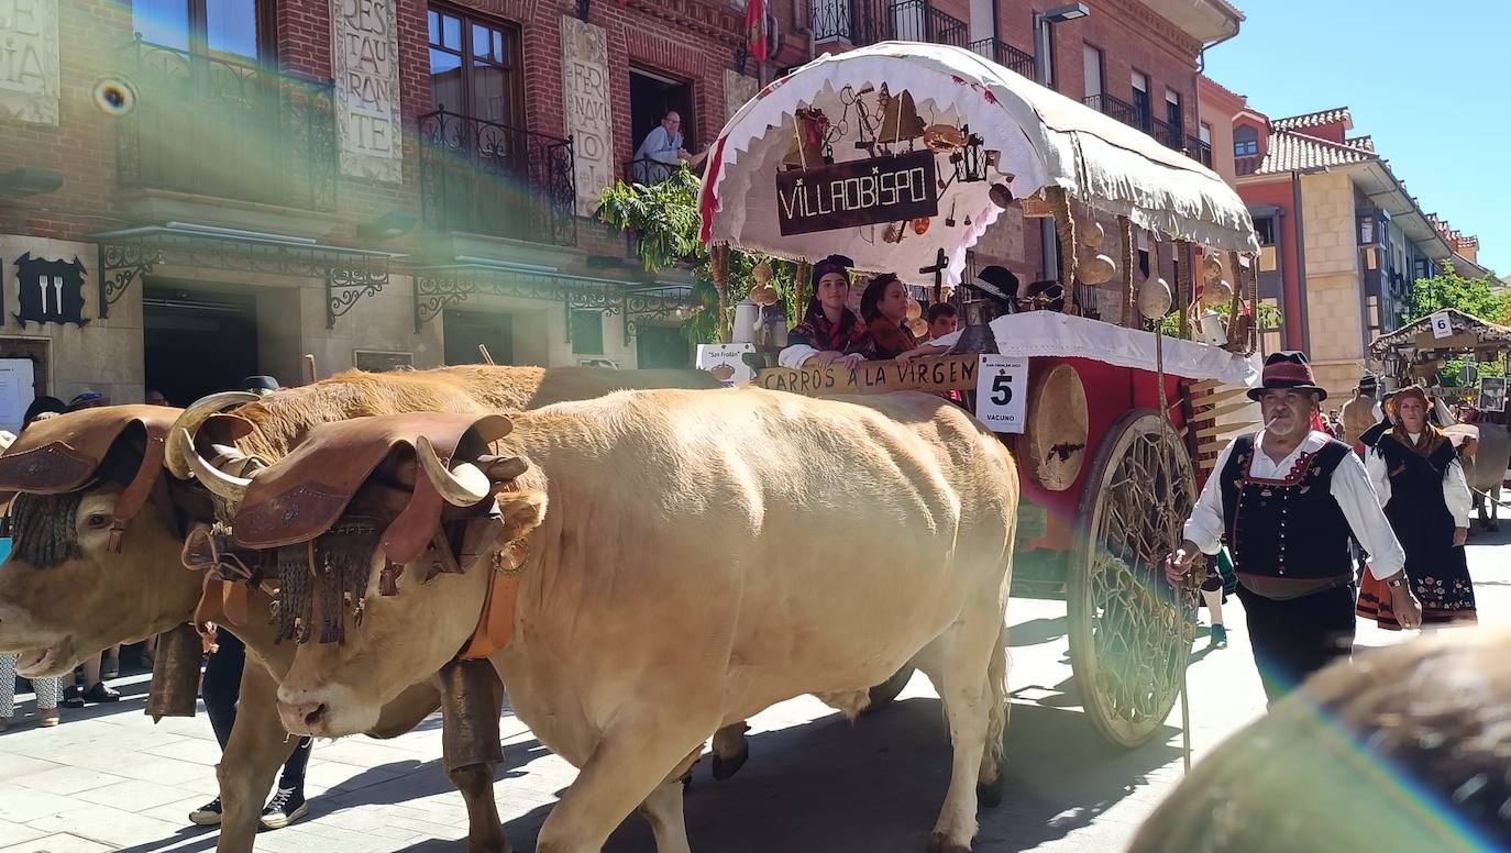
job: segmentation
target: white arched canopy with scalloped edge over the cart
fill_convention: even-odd
[[[997,152],[987,180],[952,183],[926,231],[904,229],[901,242],[882,239],[878,225],[783,236],[775,180],[796,133],[795,113],[823,110],[839,134],[834,163],[861,160],[870,154],[854,145],[858,122],[848,106],[857,92],[882,85],[893,97],[907,91],[925,124],[979,134],[984,148]],[[937,168],[941,178],[952,169],[946,154]],[[1020,199],[1046,186],[1064,187],[1070,198],[1166,239],[1259,251],[1248,210],[1210,169],[970,50],[922,42],[820,56],[740,107],[710,149],[700,199],[703,240],[789,260],[839,252],[860,269],[895,270],[914,282],[923,282],[917,270],[943,249],[944,282],[958,284],[966,249],[1002,213],[988,198],[997,183]]]

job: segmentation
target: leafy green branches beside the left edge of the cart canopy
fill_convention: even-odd
[[[654,184],[615,181],[603,192],[598,219],[635,237],[635,254],[648,272],[675,264],[692,267],[692,296],[698,308],[683,323],[683,331],[694,343],[716,343],[719,294],[713,287],[713,260],[698,239],[698,178],[686,168],[677,168],[666,180]],[[795,287],[796,266],[746,252],[730,252],[730,308],[756,287],[751,273],[763,260],[771,261],[771,284],[783,297],[787,317],[799,316],[801,306],[796,314],[792,306],[799,296]]]

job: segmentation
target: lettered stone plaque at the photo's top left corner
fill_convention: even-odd
[[[57,124],[57,0],[0,0],[0,121]]]

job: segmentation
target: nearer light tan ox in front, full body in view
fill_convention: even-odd
[[[502,457],[479,468],[459,450],[447,471],[419,432],[455,423],[409,427],[453,504],[487,498],[484,471],[529,463],[493,485],[500,512],[467,540],[497,525],[523,542],[512,640],[490,660],[518,717],[582,768],[538,853],[598,851],[638,805],[657,850],[686,851],[675,779],[715,729],[802,693],[854,713],[910,658],[944,697],[953,741],[932,848],[970,850],[976,787],[1000,785],[1018,503],[1012,459],[975,418],[925,394],[620,393],[518,415],[493,445]],[[331,460],[308,447],[258,479],[319,488]],[[378,471],[352,518],[396,518]],[[405,566],[396,596],[369,596],[343,645],[299,648],[278,691],[286,728],[366,731],[456,654],[493,572],[431,578],[440,559]]]

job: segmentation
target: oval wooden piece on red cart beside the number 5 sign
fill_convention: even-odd
[[[1076,368],[1056,364],[1029,382],[1021,456],[1034,480],[1052,492],[1076,483],[1091,433],[1086,390]]]

